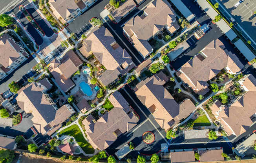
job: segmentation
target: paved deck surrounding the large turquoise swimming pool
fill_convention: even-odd
[[[94,100],[96,98],[97,92],[95,91],[94,87],[95,85],[91,84],[91,76],[89,75],[90,72],[88,72],[88,74],[84,74],[84,69],[82,69],[81,73],[80,73],[80,77],[79,75],[73,76],[72,80],[73,82],[75,82],[75,87],[73,89],[71,89],[70,94],[74,95],[76,94],[78,91],[82,92],[82,90],[80,89],[79,84],[81,82],[86,82],[88,83],[88,85],[91,87],[91,91],[93,91],[92,95],[90,97],[86,96],[85,94],[83,94],[83,98],[85,98],[86,100]],[[75,80],[76,78],[76,80]]]

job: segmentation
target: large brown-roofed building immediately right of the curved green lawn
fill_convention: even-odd
[[[138,118],[119,92],[114,92],[108,99],[113,104],[113,109],[97,121],[91,115],[82,121],[94,149],[108,148],[117,137],[135,127],[138,122]]]

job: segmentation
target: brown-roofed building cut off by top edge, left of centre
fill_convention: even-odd
[[[79,8],[74,0],[49,0],[49,3],[64,19]]]

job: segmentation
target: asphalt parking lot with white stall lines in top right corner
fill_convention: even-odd
[[[234,5],[239,0],[219,0],[225,6],[225,8],[232,14],[232,17],[241,25],[241,27],[256,41],[256,1],[244,0],[237,7]],[[221,7],[219,7],[221,9]],[[240,30],[238,30],[240,31]],[[249,40],[249,38],[246,38]],[[256,47],[255,45],[253,45]]]

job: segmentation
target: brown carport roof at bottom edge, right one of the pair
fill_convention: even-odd
[[[200,161],[224,161],[222,149],[199,151]]]

